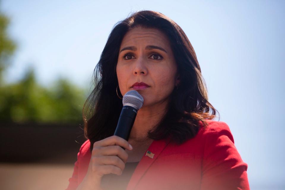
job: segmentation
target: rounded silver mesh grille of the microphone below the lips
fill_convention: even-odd
[[[127,91],[123,96],[123,106],[125,105],[135,107],[139,110],[143,106],[143,96],[135,90]]]

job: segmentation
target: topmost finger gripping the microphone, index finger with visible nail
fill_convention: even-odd
[[[130,143],[126,141],[125,139],[118,137],[116,135],[113,135],[111,137],[107,137],[103,140],[99,140],[94,143],[94,146],[110,146],[110,145],[119,145],[121,147],[124,147],[128,150],[132,150],[132,147],[130,146]]]

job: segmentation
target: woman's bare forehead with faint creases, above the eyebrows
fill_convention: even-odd
[[[121,48],[125,46],[157,45],[166,49],[170,48],[167,36],[158,29],[144,29],[136,27],[128,31],[121,43]]]

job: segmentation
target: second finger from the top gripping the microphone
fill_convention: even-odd
[[[118,145],[93,148],[92,155],[94,156],[118,156],[124,163],[128,160],[128,154]]]

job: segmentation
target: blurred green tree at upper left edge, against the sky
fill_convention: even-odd
[[[3,72],[11,63],[16,43],[7,34],[9,18],[0,12],[0,85],[3,85]]]

